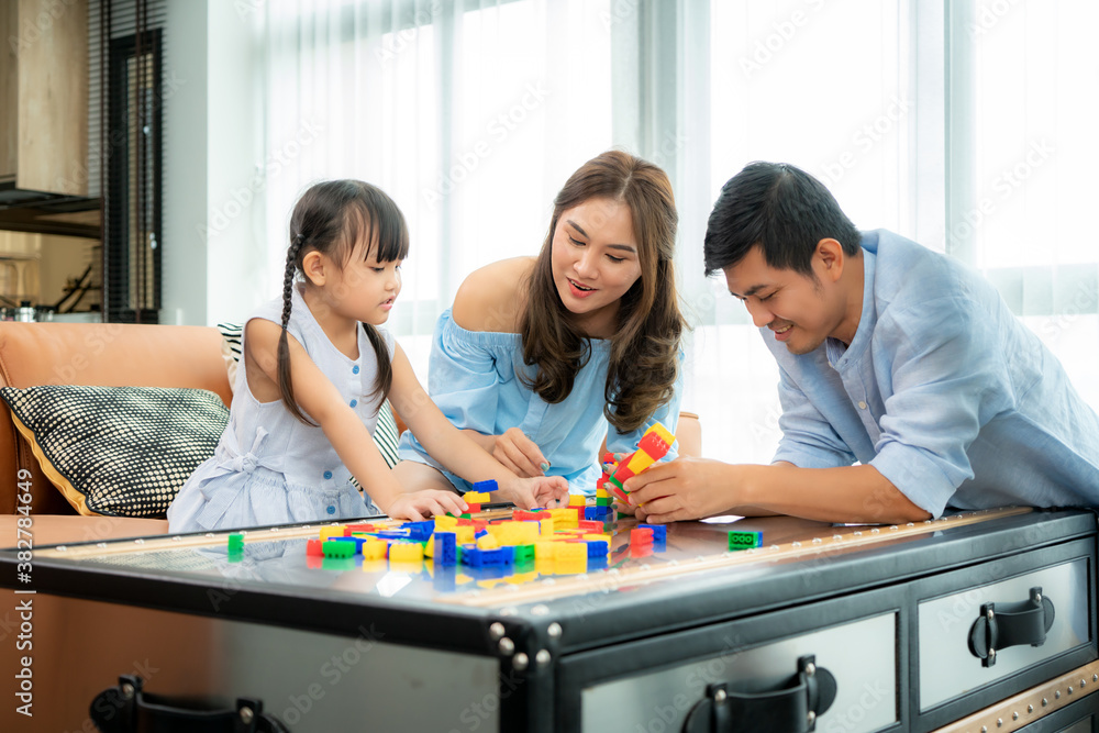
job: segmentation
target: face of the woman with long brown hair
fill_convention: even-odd
[[[623,201],[592,198],[563,211],[554,230],[557,295],[592,338],[614,334],[622,296],[641,277],[632,214]]]

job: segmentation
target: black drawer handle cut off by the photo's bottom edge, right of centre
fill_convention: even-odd
[[[691,708],[684,733],[807,733],[835,701],[835,677],[813,655],[798,659],[798,673],[779,689],[739,692],[726,682],[706,688]]]

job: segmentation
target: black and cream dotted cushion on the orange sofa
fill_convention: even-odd
[[[221,399],[200,389],[4,387],[0,398],[81,514],[164,518],[229,422]]]

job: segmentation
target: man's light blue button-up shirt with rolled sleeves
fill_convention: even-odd
[[[996,289],[890,232],[863,234],[863,312],[850,346],[778,360],[774,460],[858,460],[934,517],[947,507],[1099,506],[1099,417]]]

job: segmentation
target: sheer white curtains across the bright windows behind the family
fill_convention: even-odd
[[[707,455],[766,462],[777,370],[742,306],[702,277],[701,242],[728,178],[785,160],[859,227],[985,268],[1099,404],[1092,5],[270,0],[268,277],[281,278],[289,211],[310,182],[381,186],[412,234],[390,326],[423,378],[463,278],[534,254],[567,176],[623,147],[665,167],[676,191],[696,325],[684,409],[701,414]],[[996,173],[1034,160],[1042,140],[1055,154],[966,230]]]

